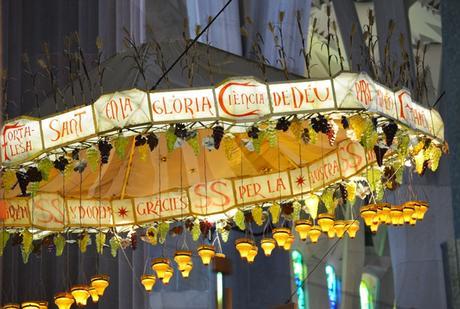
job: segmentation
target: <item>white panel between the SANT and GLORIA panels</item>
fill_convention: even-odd
[[[151,122],[147,99],[147,93],[138,89],[101,96],[93,105],[97,131]]]

